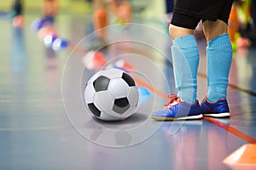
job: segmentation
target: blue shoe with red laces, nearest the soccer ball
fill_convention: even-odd
[[[174,121],[186,119],[200,119],[202,118],[201,106],[198,100],[191,105],[184,102],[177,95],[172,94],[163,111],[156,111],[151,114],[151,118],[158,121]]]

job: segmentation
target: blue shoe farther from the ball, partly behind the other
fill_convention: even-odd
[[[208,101],[207,97],[201,102],[203,116],[229,117],[230,108],[226,99],[218,99],[216,102]]]

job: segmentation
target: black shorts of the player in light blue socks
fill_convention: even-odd
[[[223,20],[228,24],[233,0],[177,0],[171,24],[195,29],[200,20]]]

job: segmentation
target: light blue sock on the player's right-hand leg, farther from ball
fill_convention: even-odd
[[[229,83],[232,47],[228,34],[213,38],[207,45],[208,99],[226,99]]]

